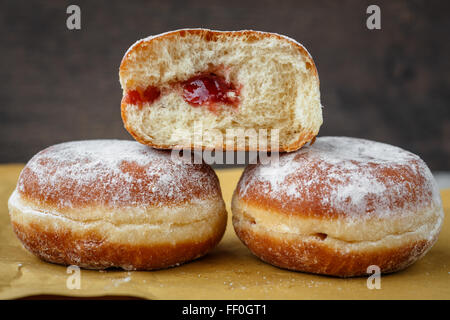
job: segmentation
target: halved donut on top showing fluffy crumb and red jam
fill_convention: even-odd
[[[157,148],[292,151],[322,124],[313,59],[274,33],[167,32],[131,46],[119,75],[126,129]],[[264,139],[235,143],[239,129]]]

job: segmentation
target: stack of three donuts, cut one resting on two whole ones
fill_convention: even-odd
[[[315,138],[319,78],[295,40],[177,30],[136,42],[119,73],[122,119],[137,142],[49,147],[27,163],[10,197],[13,230],[41,259],[152,270],[205,255],[222,238],[227,212],[212,168],[171,152],[195,148],[281,152],[245,168],[231,204],[237,236],[272,265],[339,277],[374,266],[388,273],[436,242],[439,189],[417,155]],[[203,139],[194,144],[199,125]],[[241,128],[265,130],[266,139],[277,132],[278,145],[226,134]]]

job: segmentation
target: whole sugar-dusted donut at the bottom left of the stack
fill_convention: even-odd
[[[195,259],[220,241],[227,217],[211,167],[125,140],[39,152],[20,174],[9,211],[26,249],[89,269],[149,270]]]

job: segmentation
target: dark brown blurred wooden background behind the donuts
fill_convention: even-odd
[[[82,29],[66,28],[78,4]],[[366,28],[381,7],[382,30]],[[182,27],[291,36],[313,55],[320,135],[364,137],[450,170],[448,1],[1,1],[0,162],[67,140],[127,138],[118,67],[137,39]]]

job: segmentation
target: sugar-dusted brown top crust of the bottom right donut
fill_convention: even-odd
[[[249,166],[237,188],[244,199],[290,214],[389,216],[441,206],[426,164],[384,143],[321,137],[282,154],[279,163]]]

